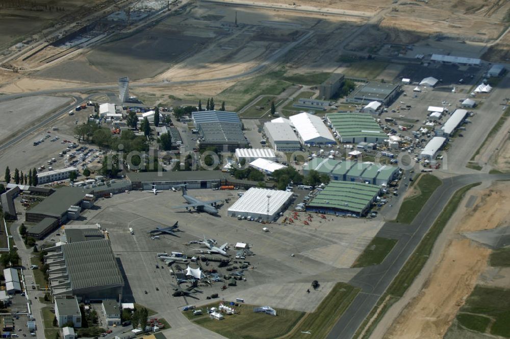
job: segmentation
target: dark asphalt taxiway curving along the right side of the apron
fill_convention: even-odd
[[[349,284],[360,287],[362,291],[331,329],[327,339],[352,338],[456,190],[479,181],[509,179],[510,175],[500,174],[460,175],[444,179],[411,225],[386,223],[382,226],[376,236],[399,241],[381,264],[363,268],[349,281]]]

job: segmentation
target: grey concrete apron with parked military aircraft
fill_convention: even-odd
[[[132,292],[134,301],[158,312],[190,303],[208,303],[206,297],[214,293],[226,300],[243,298],[250,304],[313,311],[335,282],[348,281],[359,271],[349,268],[381,227],[377,221],[342,217],[329,217],[326,221],[314,217],[310,226],[239,221],[226,216],[228,206],[237,200],[237,191],[194,189],[189,193],[204,200],[231,198],[231,201],[220,208],[220,216],[214,217],[185,209],[170,209],[184,203],[180,192],[168,190],[154,196],[150,192],[132,191],[111,199],[100,199],[96,203],[97,209],[82,213],[86,217],[85,223],[98,223],[108,230],[114,253],[120,258],[129,280],[125,297],[130,298]],[[183,231],[177,233],[179,237],[161,235],[160,239],[152,239],[147,234],[149,230],[171,226],[176,221]],[[264,226],[270,232],[262,232]],[[130,227],[134,235],[130,234]],[[238,281],[237,286],[229,286],[223,292],[221,287],[226,282],[199,287],[202,293],[194,295],[199,300],[172,297],[170,283],[175,283],[175,279],[156,254],[175,251],[192,257],[196,254],[194,249],[199,249],[200,245],[190,246],[189,241],[203,236],[216,239],[217,246],[232,244],[228,253],[233,260],[236,255],[233,245],[237,242],[252,245],[255,255],[242,260],[250,262],[250,268],[244,272],[246,281]],[[181,267],[186,265],[181,264]],[[196,263],[191,263],[191,267],[196,267]],[[209,267],[202,263],[203,269],[216,267],[216,263]],[[218,271],[228,273],[223,268]],[[307,294],[313,280],[318,280],[321,287]]]

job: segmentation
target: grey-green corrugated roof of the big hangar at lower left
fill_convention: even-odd
[[[72,289],[124,284],[110,240],[64,244],[62,253]]]

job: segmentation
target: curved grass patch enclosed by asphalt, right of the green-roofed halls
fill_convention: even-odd
[[[441,180],[431,174],[420,175],[412,186],[419,190],[419,194],[402,202],[395,221],[402,224],[411,224],[416,214],[421,211],[428,198],[441,184]]]

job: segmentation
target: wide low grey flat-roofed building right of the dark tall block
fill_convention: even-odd
[[[367,104],[378,101],[389,106],[400,93],[400,85],[368,82],[356,88],[346,98],[347,103]]]

